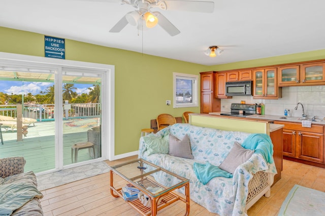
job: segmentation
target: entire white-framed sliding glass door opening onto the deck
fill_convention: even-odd
[[[105,86],[114,83],[114,67],[35,59],[0,53],[0,158],[24,157],[25,171],[44,173],[109,157],[112,138],[102,131],[114,134],[113,91]]]

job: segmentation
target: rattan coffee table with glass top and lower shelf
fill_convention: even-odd
[[[115,175],[125,180],[117,182],[118,188],[114,187]],[[155,176],[166,177],[168,185],[157,182],[154,179]],[[139,198],[127,201],[142,215],[156,215],[157,211],[176,201],[182,201],[186,204],[184,215],[189,215],[189,181],[186,178],[143,159],[136,159],[110,167],[112,196],[123,198],[122,188],[125,186],[123,184],[131,184],[146,195],[145,197],[149,201],[147,206],[149,207],[144,206]],[[174,190],[182,187],[184,187],[185,195],[174,192]]]

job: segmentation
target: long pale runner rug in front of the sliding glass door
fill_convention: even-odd
[[[97,176],[108,172],[109,166],[104,161],[94,162],[82,166],[52,172],[37,176],[38,189],[40,191],[68,184],[78,180]]]

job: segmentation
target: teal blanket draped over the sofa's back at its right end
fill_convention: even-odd
[[[261,154],[268,163],[273,163],[273,144],[267,134],[251,134],[244,142],[242,147],[254,150],[254,153]]]

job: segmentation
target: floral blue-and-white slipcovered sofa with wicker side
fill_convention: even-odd
[[[175,146],[170,145],[171,142],[174,143],[174,140],[170,140],[171,137],[179,142],[176,143],[176,148],[180,147],[185,137],[188,137],[189,152],[186,145],[183,145],[184,142],[175,151]],[[270,196],[273,178],[277,173],[272,157],[272,143],[268,146],[265,144],[267,142],[259,142],[260,145],[257,147],[259,149],[248,152],[250,153],[248,160],[240,162],[238,167],[236,165],[232,170],[233,173],[220,167],[228,165],[223,163],[225,160],[230,163],[239,162],[241,156],[238,156],[238,152],[234,154],[235,146],[237,149],[242,148],[237,146],[246,140],[246,146],[254,147],[250,145],[250,140],[256,141],[255,138],[254,134],[244,132],[221,131],[176,123],[156,134],[141,137],[139,158],[189,179],[190,199],[209,211],[220,215],[246,215],[248,201],[254,203],[263,195]],[[261,149],[268,148],[269,152],[261,152]],[[230,158],[231,154],[236,159]],[[173,185],[166,176],[154,177],[161,184]],[[184,194],[184,188],[179,189],[179,192]],[[253,203],[249,203],[248,207]]]

